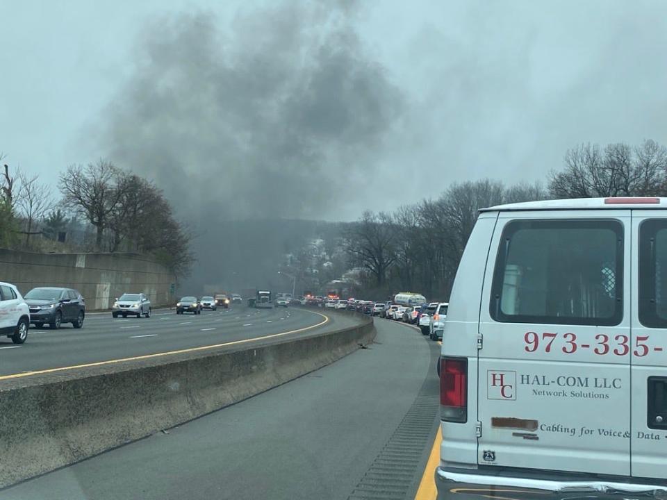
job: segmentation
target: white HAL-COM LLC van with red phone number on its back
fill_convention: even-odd
[[[438,499],[667,498],[666,209],[481,210],[443,334]]]

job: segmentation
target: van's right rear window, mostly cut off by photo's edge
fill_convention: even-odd
[[[667,220],[639,226],[639,322],[667,328]]]

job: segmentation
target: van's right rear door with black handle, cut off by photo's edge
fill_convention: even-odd
[[[632,211],[632,476],[667,478],[667,213]]]

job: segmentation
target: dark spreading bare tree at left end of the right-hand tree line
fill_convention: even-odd
[[[390,215],[363,213],[359,222],[347,226],[345,251],[352,263],[374,276],[378,287],[384,285],[387,270],[395,260],[395,230]]]

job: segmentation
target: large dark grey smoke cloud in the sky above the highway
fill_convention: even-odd
[[[368,179],[403,99],[343,3],[154,19],[102,149],[192,216],[322,218]]]

